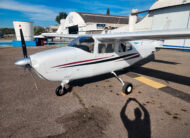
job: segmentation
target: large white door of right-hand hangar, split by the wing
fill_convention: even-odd
[[[154,11],[152,30],[185,29],[189,25],[189,5]],[[165,40],[168,46],[190,46],[189,40]]]

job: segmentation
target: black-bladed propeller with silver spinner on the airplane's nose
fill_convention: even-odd
[[[30,75],[32,76],[32,78],[34,80],[34,85],[35,85],[36,89],[38,90],[36,80],[35,80],[33,72],[32,72],[31,60],[27,54],[26,43],[25,43],[24,35],[23,35],[21,28],[20,28],[20,37],[21,37],[22,52],[23,52],[24,58],[19,59],[18,61],[15,62],[15,64],[17,66],[21,66],[21,67],[24,67],[25,69],[28,69],[28,71],[30,72]]]

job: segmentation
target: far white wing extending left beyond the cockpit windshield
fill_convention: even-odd
[[[44,37],[64,37],[64,38],[77,38],[78,34],[57,34],[57,33],[42,33]]]

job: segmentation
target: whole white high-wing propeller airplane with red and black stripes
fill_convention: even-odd
[[[131,83],[125,83],[115,71],[129,67],[154,54],[164,39],[190,37],[190,30],[146,31],[99,35],[58,35],[54,37],[75,38],[67,46],[27,55],[25,41],[20,29],[24,58],[15,64],[33,68],[36,74],[49,81],[60,81],[56,94],[64,95],[66,85],[77,79],[112,73],[122,84],[122,92],[130,94]],[[43,35],[43,34],[42,34]],[[44,34],[46,37],[52,34]]]

